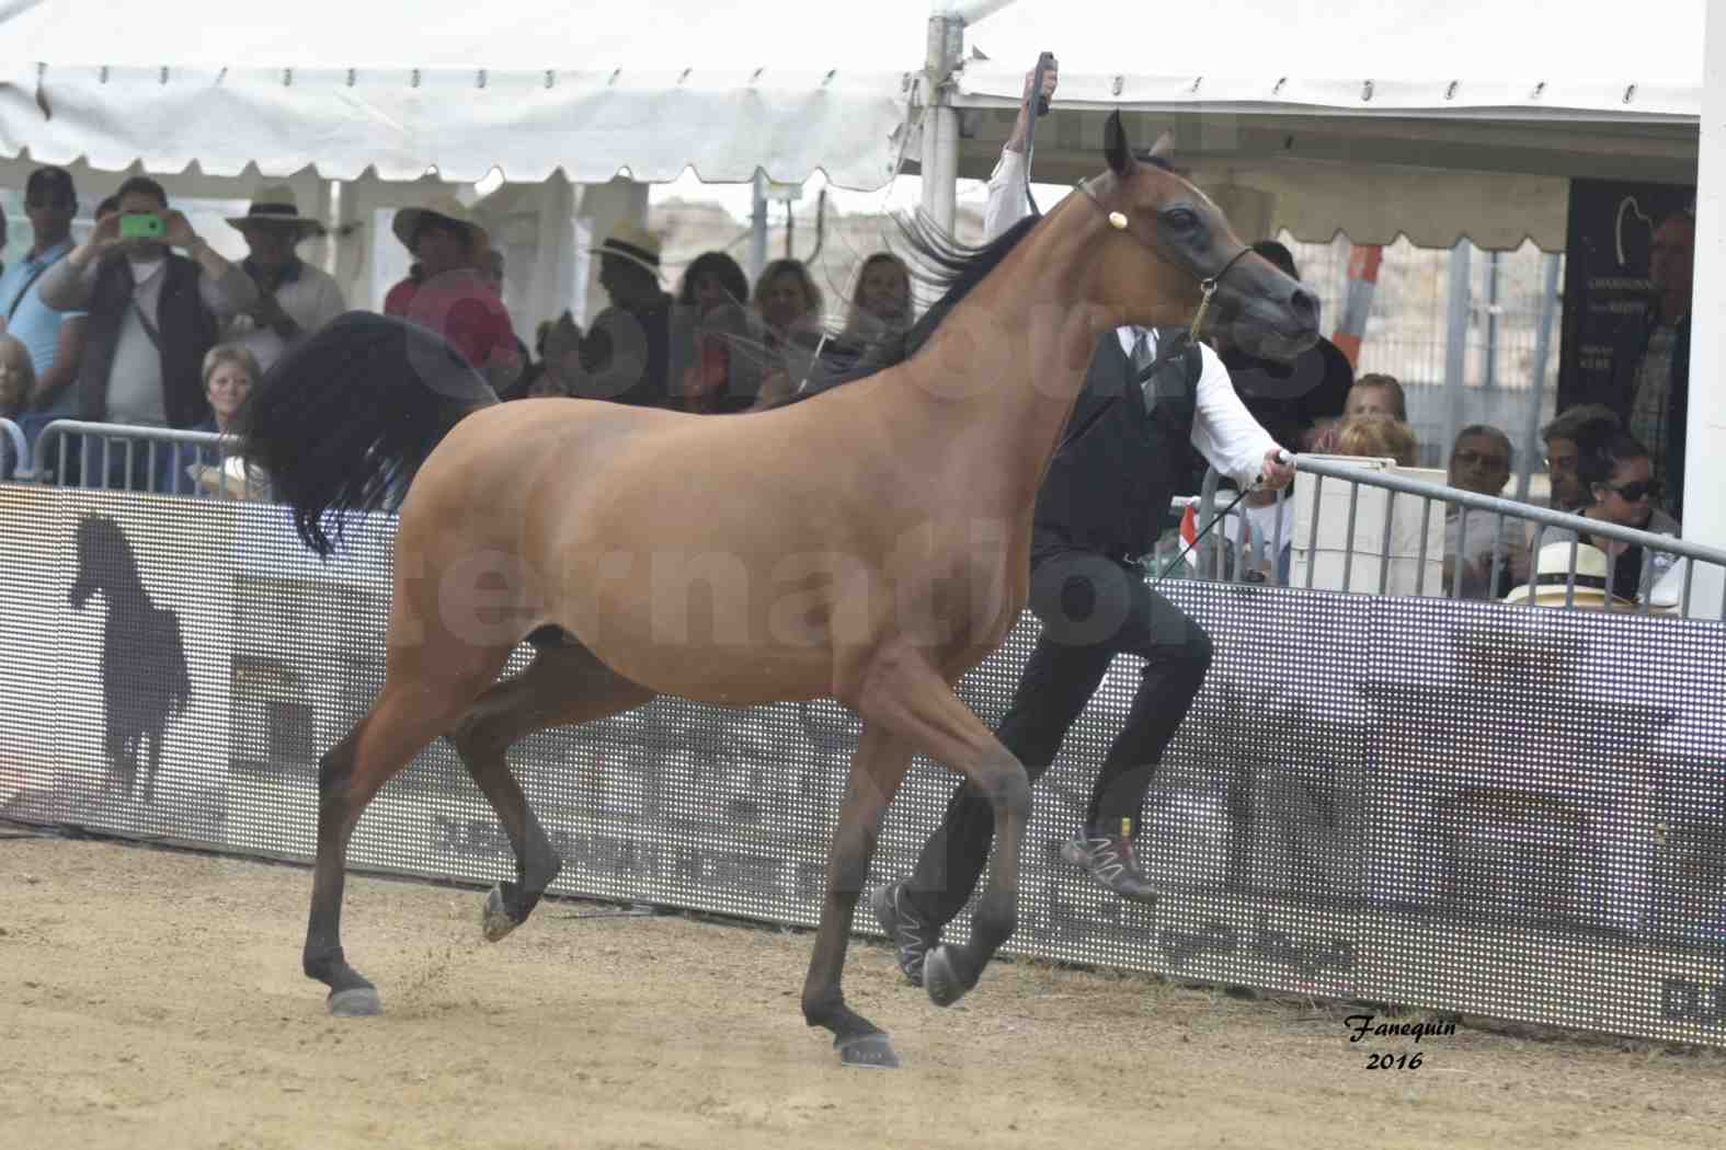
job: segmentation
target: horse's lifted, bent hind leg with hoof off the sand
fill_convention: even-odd
[[[540,647],[526,671],[492,686],[450,733],[468,774],[502,821],[516,855],[516,881],[499,883],[485,900],[480,926],[487,940],[495,943],[521,926],[563,867],[521,784],[509,772],[507,750],[533,731],[604,719],[640,707],[652,697],[580,643]]]

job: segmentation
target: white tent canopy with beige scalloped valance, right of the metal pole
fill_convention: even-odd
[[[1569,179],[1693,183],[1704,0],[1020,0],[967,29],[958,172],[984,176],[1037,52],[1060,60],[1036,176],[1099,167],[1120,109],[1244,231],[1564,247]]]

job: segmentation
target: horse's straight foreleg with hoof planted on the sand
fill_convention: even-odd
[[[846,1066],[899,1066],[887,1034],[846,1005],[841,979],[851,917],[868,883],[870,859],[875,857],[875,836],[910,766],[908,743],[865,722],[858,750],[851,757],[839,828],[827,852],[827,900],[822,903],[809,974],[803,983],[803,1017],[809,1026],[825,1026],[834,1033],[834,1048]]]

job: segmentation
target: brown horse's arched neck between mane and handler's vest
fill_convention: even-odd
[[[1120,319],[1096,298],[1087,222],[1051,212],[908,364],[929,407],[918,422],[949,459],[973,462],[975,498],[1005,503],[1003,514],[1029,514],[1098,336]]]

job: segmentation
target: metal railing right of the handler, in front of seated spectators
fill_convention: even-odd
[[[1548,588],[1550,591],[1557,593],[1557,588],[1560,586],[1560,581],[1555,578],[1555,572],[1540,571],[1541,543],[1548,533],[1560,533],[1562,536],[1567,536],[1557,541],[1569,541],[1571,545],[1567,571],[1562,572],[1565,607],[1576,605],[1578,557],[1579,557],[1579,548],[1583,545],[1581,543],[1583,536],[1591,536],[1595,540],[1612,540],[1626,547],[1643,548],[1640,586],[1635,597],[1635,610],[1638,614],[1654,614],[1655,610],[1667,614],[1671,609],[1676,609],[1676,614],[1688,617],[1691,616],[1691,605],[1693,605],[1691,600],[1695,586],[1695,566],[1707,564],[1712,567],[1719,567],[1723,572],[1726,572],[1726,550],[1705,547],[1700,543],[1691,543],[1688,540],[1672,534],[1638,531],[1635,528],[1624,528],[1600,519],[1586,519],[1583,516],[1572,516],[1546,507],[1534,507],[1531,503],[1519,503],[1515,500],[1498,498],[1491,495],[1476,495],[1472,491],[1462,491],[1458,488],[1445,486],[1439,483],[1427,483],[1424,479],[1410,479],[1405,476],[1386,474],[1367,467],[1351,466],[1346,462],[1336,462],[1331,459],[1313,459],[1300,455],[1294,460],[1294,467],[1301,476],[1308,478],[1312,483],[1312,503],[1307,516],[1308,522],[1305,524],[1307,538],[1305,540],[1282,538],[1281,528],[1284,521],[1284,509],[1281,503],[1282,500],[1293,498],[1289,491],[1284,491],[1282,500],[1279,500],[1276,514],[1272,517],[1276,533],[1274,538],[1269,540],[1272,572],[1276,572],[1277,569],[1277,560],[1282,555],[1284,543],[1289,543],[1291,550],[1305,543],[1305,559],[1307,559],[1305,571],[1291,572],[1296,578],[1291,578],[1288,581],[1289,586],[1298,586],[1298,588],[1303,586],[1307,590],[1313,588],[1315,574],[1319,571],[1315,557],[1320,552],[1319,524],[1322,509],[1326,507],[1327,483],[1331,484],[1341,483],[1346,488],[1345,498],[1348,500],[1348,514],[1346,514],[1346,526],[1343,531],[1345,547],[1343,547],[1341,586],[1339,588],[1327,586],[1324,590],[1365,591],[1377,595],[1389,593],[1391,559],[1393,559],[1391,534],[1395,528],[1393,510],[1398,497],[1420,500],[1420,529],[1417,533],[1419,543],[1415,553],[1410,555],[1410,559],[1414,559],[1414,595],[1433,593],[1427,590],[1427,567],[1429,567],[1429,534],[1431,534],[1429,528],[1433,522],[1431,517],[1434,503],[1441,505],[1446,512],[1450,509],[1460,510],[1455,524],[1457,526],[1455,547],[1453,548],[1445,547],[1439,552],[1439,559],[1450,566],[1450,571],[1445,576],[1441,576],[1443,581],[1441,586],[1436,590],[1436,593],[1445,595],[1448,598],[1464,598],[1464,578],[1460,572],[1460,564],[1457,560],[1458,557],[1471,555],[1467,545],[1469,522],[1471,519],[1476,519],[1476,516],[1471,516],[1467,512],[1481,512],[1484,516],[1491,516],[1491,533],[1493,533],[1493,543],[1490,550],[1491,560],[1488,567],[1488,578],[1484,583],[1484,586],[1490,590],[1488,598],[1498,598],[1498,595],[1493,595],[1491,590],[1505,586],[1503,584],[1505,571],[1507,566],[1512,562],[1510,555],[1512,548],[1509,548],[1505,541],[1507,522],[1528,524],[1533,531],[1533,538],[1524,548],[1529,567],[1528,574],[1526,578],[1515,574],[1512,581],[1512,586],[1526,586],[1528,597],[1531,600],[1534,598],[1534,593],[1540,588]],[[1376,586],[1357,586],[1355,579],[1355,550],[1357,550],[1355,540],[1357,540],[1357,526],[1360,516],[1362,488],[1379,488],[1386,493],[1386,502],[1383,509],[1384,526],[1381,529],[1379,550],[1370,555],[1374,560],[1377,560]],[[1219,476],[1215,469],[1212,469],[1205,476],[1205,486],[1200,493],[1198,516],[1201,531],[1217,516],[1217,491],[1219,491]],[[1332,498],[1338,497],[1332,495]],[[1331,505],[1334,507],[1334,503]],[[1217,548],[1213,548],[1205,557],[1205,562],[1201,562],[1200,567],[1201,578],[1241,583],[1253,578],[1250,572],[1263,569],[1263,543],[1267,540],[1251,538],[1246,531],[1244,517],[1239,517],[1236,522],[1239,526],[1236,528],[1234,538],[1227,538],[1225,524],[1219,524],[1215,534],[1225,538]],[[1657,564],[1654,562],[1655,555],[1671,555],[1674,560],[1672,564],[1674,567],[1678,566],[1678,560],[1683,560],[1683,574],[1679,579],[1681,588],[1678,590],[1676,598],[1667,600],[1666,595],[1662,595],[1660,602],[1655,600],[1654,595],[1657,583],[1655,579]],[[1300,578],[1300,574],[1303,574],[1305,578]],[[1609,555],[1607,588],[1605,588],[1607,591],[1610,591],[1612,588],[1614,581],[1612,574],[1614,574],[1612,557]],[[1269,581],[1279,584],[1282,583],[1282,579],[1274,578],[1274,574],[1270,578],[1260,576],[1258,581]],[[1584,591],[1588,590],[1591,588],[1590,584],[1584,583]],[[1723,590],[1719,617],[1726,617],[1726,590]]]

